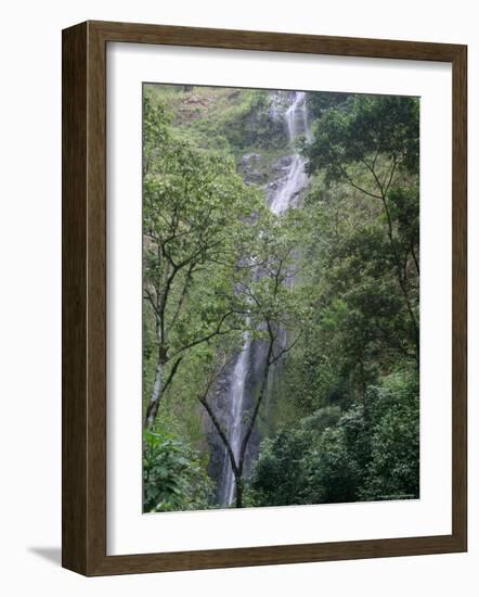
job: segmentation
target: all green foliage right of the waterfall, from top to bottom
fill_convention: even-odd
[[[248,498],[417,497],[418,102],[314,102],[314,136],[303,145],[309,229],[296,254],[314,308],[275,384],[276,408],[289,405],[288,427],[261,446]],[[333,407],[323,429],[308,423],[312,410],[321,420]]]

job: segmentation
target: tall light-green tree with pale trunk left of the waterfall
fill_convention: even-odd
[[[242,325],[230,271],[255,234],[254,223],[245,226],[245,220],[262,208],[231,160],[176,139],[169,124],[164,105],[146,98],[143,297],[154,320],[156,353],[147,429],[185,354]],[[194,285],[205,280],[207,295],[192,305]]]

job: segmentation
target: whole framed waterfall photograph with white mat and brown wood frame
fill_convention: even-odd
[[[467,549],[465,46],[63,31],[63,566]]]

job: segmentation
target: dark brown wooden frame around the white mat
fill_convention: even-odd
[[[106,43],[268,50],[452,63],[452,534],[106,555]],[[467,549],[467,47],[86,22],[63,31],[63,566],[92,576]]]

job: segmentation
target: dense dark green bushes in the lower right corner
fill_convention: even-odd
[[[417,378],[396,373],[366,405],[323,408],[261,445],[249,481],[256,506],[418,497]]]

